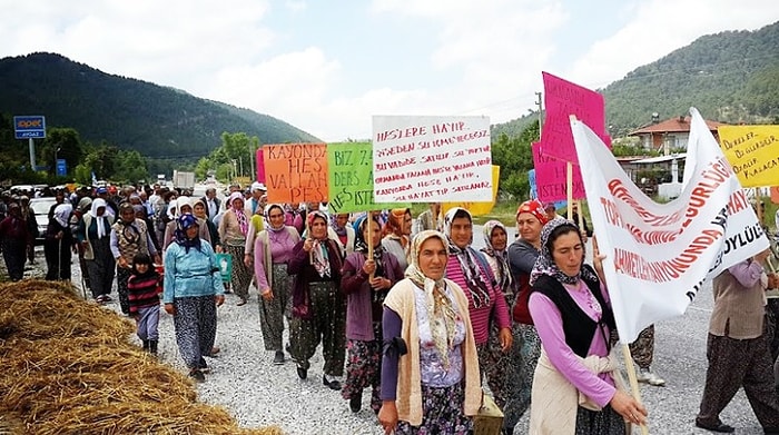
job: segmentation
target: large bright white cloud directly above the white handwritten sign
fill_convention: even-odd
[[[556,1],[376,0],[373,9],[437,23],[430,73],[458,76],[441,92],[446,98],[438,112],[492,115],[493,122],[522,116],[532,105],[540,71],[554,52],[553,36],[568,18]]]

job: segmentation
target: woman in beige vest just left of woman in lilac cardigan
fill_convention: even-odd
[[[253,270],[244,261],[249,225],[249,216],[244,210],[244,195],[234,191],[227,198],[227,211],[219,220],[219,240],[223,249],[233,258],[230,287],[239,298],[237,306],[246,305],[252,284]]]

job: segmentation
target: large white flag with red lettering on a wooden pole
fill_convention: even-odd
[[[601,139],[572,119],[590,214],[622,343],[681,315],[702,283],[768,248],[757,216],[698,110],[679,198],[657,204]]]

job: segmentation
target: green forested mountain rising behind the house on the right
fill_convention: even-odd
[[[615,137],[649,123],[652,112],[662,120],[691,106],[721,122],[779,123],[779,22],[701,37],[599,91]],[[493,135],[511,136],[535,117],[496,125]]]

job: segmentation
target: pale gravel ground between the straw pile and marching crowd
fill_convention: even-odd
[[[80,278],[73,276],[73,283],[80,283]],[[289,435],[383,434],[369,408],[369,392],[363,395],[363,409],[355,414],[341,392],[323,385],[321,350],[310,359],[306,380],[297,377],[289,355],[284,365],[273,364],[274,353],[265,350],[263,343],[254,287],[250,294],[249,301],[240,307],[236,306],[238,297],[226,295],[217,310],[216,346],[220,352],[206,358],[211,370],[206,382],[196,386],[200,401],[226,407],[241,427],[277,425]],[[112,297],[106,307],[121,316],[116,291]],[[159,359],[186,373],[176,346],[172,316],[162,309],[159,336]],[[130,339],[140,346],[136,336]]]

